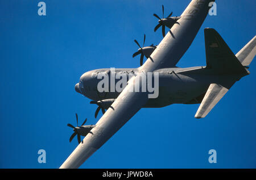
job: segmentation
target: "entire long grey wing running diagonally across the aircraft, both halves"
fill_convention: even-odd
[[[193,0],[175,24],[171,31],[164,37],[151,57],[139,68],[141,73],[153,72],[159,68],[173,67],[191,45],[201,24],[208,14],[209,2],[214,0]],[[134,82],[139,78],[134,77]],[[88,134],[82,143],[71,153],[60,168],[79,168],[97,149],[118,131],[141,107],[148,101],[147,93],[132,93],[134,83],[131,79],[122,93],[112,104],[96,127],[93,134]]]

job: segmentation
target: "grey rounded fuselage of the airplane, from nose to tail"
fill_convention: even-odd
[[[108,74],[109,72],[110,69],[96,69],[82,74],[80,82],[75,86],[76,91],[94,101],[116,99],[120,94],[117,91],[109,90],[102,93],[97,91],[98,82],[101,81],[101,79],[97,78],[97,74]],[[115,73],[124,73],[127,77],[137,72],[137,68],[115,69]],[[230,78],[237,79],[237,77],[233,76],[216,76],[210,69],[203,66],[165,68],[155,70],[154,72],[159,73],[159,95],[157,98],[149,98],[143,107],[164,107],[174,103],[201,103],[210,83],[227,83],[227,81],[230,81]],[[118,81],[119,79],[115,80],[115,85]]]

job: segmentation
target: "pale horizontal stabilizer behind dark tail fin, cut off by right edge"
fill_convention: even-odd
[[[249,66],[256,54],[256,36],[250,40],[237,54],[236,57],[243,66]]]

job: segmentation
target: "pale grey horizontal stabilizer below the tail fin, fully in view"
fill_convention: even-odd
[[[212,110],[212,108],[220,101],[222,97],[228,92],[226,87],[217,85],[216,83],[211,83],[207,93],[204,96],[203,101],[201,102],[195,118],[204,118]]]

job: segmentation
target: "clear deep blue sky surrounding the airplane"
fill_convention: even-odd
[[[180,15],[190,1],[0,2],[0,168],[59,168],[77,146],[75,124],[94,124],[96,106],[76,93],[80,76],[99,68],[135,68],[134,43],[158,44],[161,16]],[[205,65],[204,28],[215,28],[234,53],[255,36],[255,2],[216,1],[193,44],[177,64]],[[256,168],[255,60],[208,114],[195,119],[199,104],[144,108],[81,168]],[[101,112],[100,112],[101,113]],[[101,115],[101,114],[100,114]],[[98,116],[100,118],[100,116]],[[46,150],[46,164],[38,150]],[[217,151],[209,164],[208,151]]]

